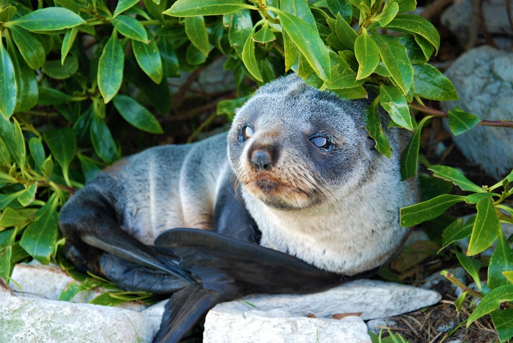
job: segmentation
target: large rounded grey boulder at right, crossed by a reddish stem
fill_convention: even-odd
[[[456,59],[445,75],[455,85],[459,100],[442,102],[444,111],[460,106],[482,119],[513,120],[513,53],[489,46],[472,49]],[[444,125],[448,130],[447,120]],[[511,172],[511,128],[476,126],[453,140],[472,163],[497,180]]]

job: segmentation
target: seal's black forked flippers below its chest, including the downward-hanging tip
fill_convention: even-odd
[[[190,286],[173,294],[155,343],[179,341],[222,301],[252,293],[322,291],[341,283],[340,275],[291,255],[214,232],[171,229],[160,234],[155,245],[173,250],[182,259],[179,267],[203,281],[203,288]]]

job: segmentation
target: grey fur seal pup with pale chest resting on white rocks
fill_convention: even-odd
[[[97,175],[61,210],[65,253],[126,289],[174,292],[155,339],[166,342],[218,302],[319,291],[378,268],[407,236],[399,209],[417,186],[401,181],[402,130],[385,129],[391,158],[373,149],[369,104],[279,78],[228,133]]]

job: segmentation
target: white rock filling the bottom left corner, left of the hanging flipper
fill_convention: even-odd
[[[0,300],[1,342],[151,342],[153,325],[138,312],[12,296]]]

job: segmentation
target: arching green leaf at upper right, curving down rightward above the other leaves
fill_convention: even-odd
[[[398,14],[387,26],[387,29],[403,33],[415,33],[427,41],[438,51],[440,46],[440,35],[433,24],[415,14]],[[426,58],[429,58],[426,56]]]

